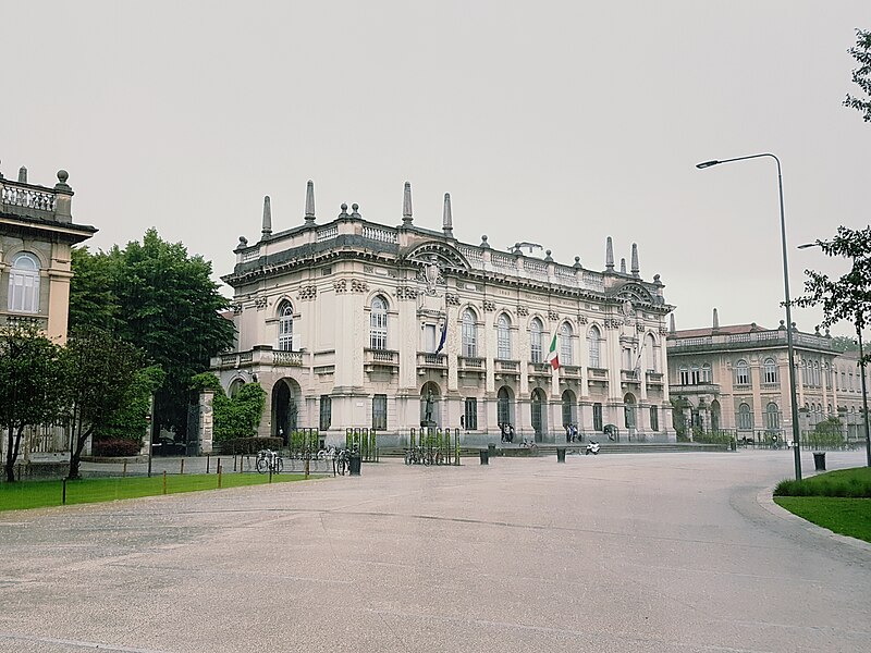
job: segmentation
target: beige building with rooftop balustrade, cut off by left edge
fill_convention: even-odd
[[[0,173],[0,326],[36,324],[60,344],[66,342],[70,313],[70,248],[97,231],[73,222],[68,177],[58,171],[58,183],[49,187],[28,183],[25,168],[15,182]],[[62,439],[40,428],[27,434],[25,453],[63,448]]]

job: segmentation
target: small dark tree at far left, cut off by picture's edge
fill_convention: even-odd
[[[15,480],[24,429],[53,423],[63,412],[63,368],[60,348],[40,335],[36,326],[0,329],[0,426],[7,432],[7,481]]]

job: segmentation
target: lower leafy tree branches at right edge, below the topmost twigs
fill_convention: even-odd
[[[815,243],[826,256],[843,256],[851,260],[850,271],[838,279],[822,272],[805,270],[805,295],[795,300],[797,306],[820,306],[823,309],[822,326],[845,320],[861,332],[867,325],[871,308],[871,226],[850,230],[839,226],[831,241]],[[860,365],[871,360],[863,353]]]

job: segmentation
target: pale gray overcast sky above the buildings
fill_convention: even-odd
[[[846,271],[796,245],[869,223],[871,124],[842,107],[871,28],[837,2],[5,2],[0,171],[76,192],[106,249],[149,226],[232,270],[273,230],[364,218],[493,247],[541,243],[604,268],[605,237],[661,274],[679,329],[783,318],[783,164],[793,295],[803,269]],[[542,254],[543,256],[543,254]],[[230,288],[224,288],[229,294]],[[802,330],[817,311],[796,311]],[[833,329],[849,334],[848,324]]]

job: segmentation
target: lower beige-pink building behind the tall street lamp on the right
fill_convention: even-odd
[[[792,439],[786,326],[719,324],[667,337],[671,396],[687,427],[737,431],[738,438]],[[861,369],[856,353],[841,353],[829,334],[793,331],[799,429],[838,417],[851,440],[864,439]]]

